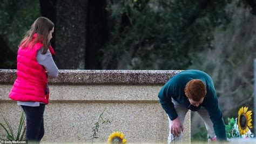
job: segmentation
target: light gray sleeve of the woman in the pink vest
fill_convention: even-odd
[[[58,68],[53,61],[49,50],[46,52],[46,54],[42,54],[41,49],[39,49],[37,51],[36,59],[37,62],[44,66],[44,68],[48,71],[48,76],[50,78],[56,78],[58,76]]]

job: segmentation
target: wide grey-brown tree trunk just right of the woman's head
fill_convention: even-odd
[[[59,69],[84,69],[87,1],[57,1],[56,64]]]

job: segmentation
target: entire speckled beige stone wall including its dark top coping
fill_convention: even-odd
[[[112,131],[122,131],[128,142],[167,141],[168,119],[157,95],[161,86],[169,80],[168,77],[179,71],[117,70],[114,73],[112,70],[98,70],[97,74],[92,70],[100,78],[108,76],[105,79],[95,77],[97,80],[91,79],[92,73],[89,78],[82,78],[90,70],[68,71],[61,70],[60,76],[63,77],[58,77],[50,84],[50,103],[44,113],[43,142],[90,142],[93,124],[105,107],[104,118],[109,119],[111,124],[100,125],[96,142],[106,142]],[[15,70],[0,70],[0,76],[4,76],[0,77],[0,115],[14,125],[22,112],[21,107],[8,98],[15,73]],[[142,78],[136,79],[133,76]],[[79,77],[81,79],[76,80]],[[187,113],[184,127],[183,142],[190,142],[190,112]],[[3,129],[0,128],[0,135],[2,133]]]

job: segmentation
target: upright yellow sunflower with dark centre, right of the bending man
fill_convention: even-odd
[[[252,111],[247,111],[248,107],[241,107],[238,111],[238,128],[240,134],[246,134],[252,128]]]

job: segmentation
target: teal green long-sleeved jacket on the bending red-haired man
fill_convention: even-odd
[[[190,80],[199,79],[206,85],[206,96],[203,103],[198,107],[190,105],[185,96],[185,86]],[[214,132],[217,140],[226,140],[226,129],[223,121],[223,115],[220,111],[218,98],[214,89],[212,78],[200,70],[184,70],[174,75],[164,86],[158,94],[160,104],[168,114],[171,120],[178,117],[172,98],[179,104],[187,107],[192,111],[198,111],[202,106],[207,110],[210,119],[213,123]]]

